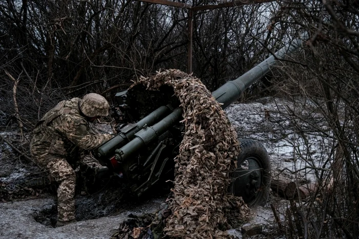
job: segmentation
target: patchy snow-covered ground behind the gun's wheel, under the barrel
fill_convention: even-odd
[[[265,146],[273,172],[287,168],[287,172],[297,172],[293,176],[315,182],[315,172],[323,170],[330,158],[328,149],[333,140],[321,114],[295,107],[293,102],[267,97],[232,104],[226,113],[238,137],[258,140]],[[294,113],[303,120],[296,119],[294,124]]]

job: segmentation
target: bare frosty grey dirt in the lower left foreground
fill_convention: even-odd
[[[152,198],[141,203],[124,203],[111,212],[105,209],[107,212],[99,218],[58,228],[49,225],[49,218],[54,219],[55,215],[54,197],[2,203],[0,238],[110,238],[114,230],[118,229],[119,222],[126,220],[128,214],[151,213],[163,200],[164,198]]]

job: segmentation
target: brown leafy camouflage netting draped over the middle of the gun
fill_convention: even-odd
[[[220,104],[197,78],[179,70],[158,72],[142,77],[137,84],[156,90],[173,87],[183,108],[185,135],[175,158],[175,180],[167,200],[172,214],[166,220],[168,237],[227,238],[226,215],[230,210],[244,220],[248,207],[241,198],[227,193],[229,173],[236,167],[240,153],[236,132]],[[133,228],[130,236],[138,228]],[[121,231],[121,228],[120,228]],[[131,238],[128,235],[119,238]]]

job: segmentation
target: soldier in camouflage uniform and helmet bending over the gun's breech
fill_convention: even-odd
[[[57,223],[64,226],[75,219],[75,171],[78,150],[91,150],[112,138],[110,134],[91,135],[88,122],[107,116],[109,103],[101,95],[90,93],[82,99],[59,102],[36,124],[31,141],[34,161],[59,183]]]

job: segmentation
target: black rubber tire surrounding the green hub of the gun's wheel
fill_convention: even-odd
[[[270,189],[270,181],[271,181],[271,166],[269,161],[269,155],[267,153],[266,148],[256,140],[240,139],[239,141],[242,151],[237,159],[237,170],[241,170],[240,165],[242,165],[242,163],[244,163],[246,160],[249,159],[255,162],[258,168],[260,168],[261,182],[257,183],[258,189],[256,190],[255,193],[245,192],[243,181],[240,182],[240,179],[238,178],[238,174],[236,174],[239,172],[234,172],[232,174],[232,178],[234,178],[234,180],[229,186],[229,192],[233,193],[236,196],[243,197],[243,200],[249,206],[257,206],[257,205],[264,206],[269,197],[269,189]],[[249,182],[248,178],[246,180]]]

